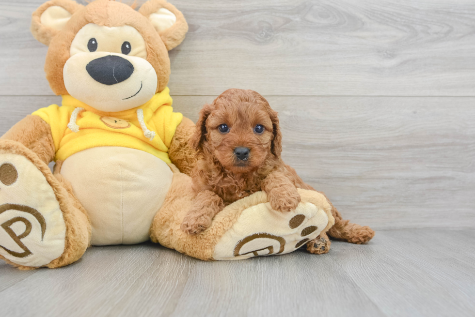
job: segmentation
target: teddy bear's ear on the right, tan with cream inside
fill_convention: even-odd
[[[167,50],[178,46],[188,32],[183,14],[165,0],[148,0],[139,12],[152,22]]]

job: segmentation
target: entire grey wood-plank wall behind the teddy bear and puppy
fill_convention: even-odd
[[[0,134],[61,102],[29,31],[42,2],[0,1]],[[345,217],[475,227],[474,0],[171,2],[190,25],[170,52],[175,110],[196,120],[253,89],[279,111],[285,161]]]

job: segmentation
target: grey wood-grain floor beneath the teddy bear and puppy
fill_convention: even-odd
[[[456,243],[452,242],[450,237]],[[473,316],[475,231],[378,231],[330,253],[203,262],[159,245],[93,247],[29,276],[0,263],[4,316]],[[460,257],[460,254],[462,257]]]

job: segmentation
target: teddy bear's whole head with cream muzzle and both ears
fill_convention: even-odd
[[[45,72],[57,95],[118,112],[166,88],[168,50],[183,41],[188,25],[164,0],[149,0],[139,11],[114,0],[50,0],[33,13],[31,30],[49,46]]]

